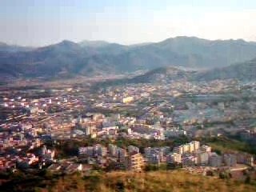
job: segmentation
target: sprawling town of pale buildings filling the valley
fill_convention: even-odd
[[[255,93],[256,84],[235,81],[3,89],[0,169],[88,174],[95,166],[143,171],[165,165],[201,174],[248,170],[254,154],[212,150],[202,138],[239,137],[253,146]],[[186,139],[164,143],[180,138]],[[86,140],[94,142],[83,144]],[[122,140],[163,143],[118,145]],[[66,141],[79,145],[63,152]]]

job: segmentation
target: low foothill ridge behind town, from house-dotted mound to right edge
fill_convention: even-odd
[[[249,62],[242,62],[206,71],[181,70],[175,67],[159,67],[133,78],[122,78],[99,82],[96,84],[96,87],[120,86],[130,83],[170,83],[174,80],[181,79],[194,82],[225,79],[237,79],[243,82],[256,81],[256,58]]]

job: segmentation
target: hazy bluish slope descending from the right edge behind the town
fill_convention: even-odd
[[[238,79],[240,81],[256,81],[256,58],[219,69],[209,70],[194,76],[195,80],[212,81],[216,79]]]

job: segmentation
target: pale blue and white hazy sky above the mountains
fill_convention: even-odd
[[[176,36],[256,41],[255,0],[0,0],[0,42],[121,44]]]

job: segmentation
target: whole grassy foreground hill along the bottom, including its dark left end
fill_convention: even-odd
[[[54,176],[46,174],[44,178],[27,176],[7,182],[4,191],[210,191],[210,192],[250,192],[255,191],[254,182],[244,184],[234,180],[222,180],[215,177],[189,174],[184,171],[154,171],[146,173],[111,172],[92,174],[82,177],[80,174]]]

